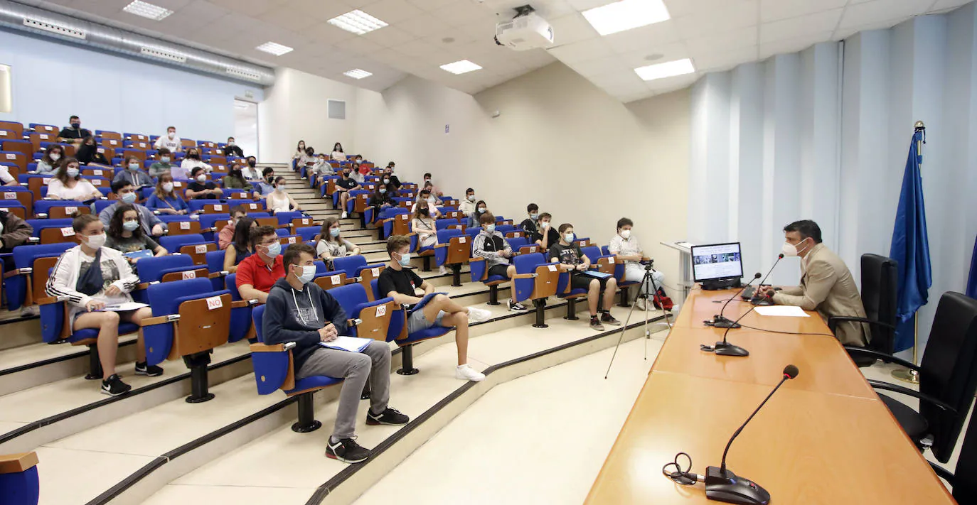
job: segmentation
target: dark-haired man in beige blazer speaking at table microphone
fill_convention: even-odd
[[[821,228],[813,221],[796,221],[784,227],[785,256],[800,256],[800,285],[773,287],[763,294],[778,305],[794,305],[805,311],[828,316],[865,317],[862,297],[855,279],[838,255],[821,243]],[[838,323],[835,336],[846,346],[865,347],[871,339],[869,326],[863,322]]]

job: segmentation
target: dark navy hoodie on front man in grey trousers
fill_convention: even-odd
[[[346,312],[339,302],[314,282],[296,291],[284,277],[268,292],[262,318],[265,343],[295,342],[292,357],[295,371],[319,347],[319,328],[332,322],[340,335],[346,334]]]

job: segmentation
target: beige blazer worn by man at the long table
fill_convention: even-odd
[[[838,255],[825,244],[817,244],[801,261],[807,267],[800,285],[779,291],[774,295],[774,303],[818,311],[825,320],[828,316],[865,317],[855,278]],[[835,336],[846,346],[865,347],[871,339],[869,325],[853,321],[838,323]]]

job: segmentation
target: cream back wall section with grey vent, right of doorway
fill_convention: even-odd
[[[354,123],[358,91],[341,82],[293,68],[276,69],[275,86],[258,105],[258,131],[262,162],[288,161],[300,140],[317,152],[332,152],[341,143],[356,153]],[[328,100],[346,102],[346,119],[329,119]]]

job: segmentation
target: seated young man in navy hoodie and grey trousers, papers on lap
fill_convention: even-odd
[[[262,327],[269,345],[294,342],[292,357],[295,379],[317,375],[344,379],[332,435],[325,455],[344,463],[360,463],[370,450],[355,441],[357,408],[367,379],[370,408],[366,424],[403,425],[409,420],[387,406],[390,398],[390,346],[372,341],[360,353],[319,346],[346,333],[346,313],[328,292],[315,282],[316,250],[309,244],[292,244],[285,249],[285,276],[268,293]]]

